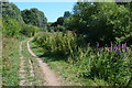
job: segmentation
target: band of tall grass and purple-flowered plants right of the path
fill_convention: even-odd
[[[79,68],[78,77],[103,79],[111,86],[131,85],[132,50],[127,44],[111,47],[81,47],[80,37],[73,32],[40,33],[34,42],[44,53],[65,57]],[[62,58],[64,59],[64,58]]]

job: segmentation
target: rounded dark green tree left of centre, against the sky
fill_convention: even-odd
[[[38,11],[35,8],[30,10],[23,10],[22,18],[26,24],[36,25],[42,29],[46,28],[47,19],[42,11]]]

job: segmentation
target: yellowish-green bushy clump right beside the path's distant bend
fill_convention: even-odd
[[[77,36],[72,32],[42,33],[34,38],[46,53],[67,57],[77,48]]]

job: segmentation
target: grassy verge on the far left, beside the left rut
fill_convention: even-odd
[[[19,85],[20,40],[13,37],[3,37],[2,44],[2,85]]]

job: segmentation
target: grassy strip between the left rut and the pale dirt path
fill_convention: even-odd
[[[45,82],[44,76],[43,76],[42,70],[41,70],[41,68],[38,66],[37,61],[34,59],[34,57],[31,56],[31,54],[29,53],[28,47],[26,47],[26,42],[23,44],[23,52],[22,52],[22,54],[23,54],[24,61],[25,61],[25,70],[28,72],[26,73],[28,80],[30,82],[33,82],[35,86],[44,86],[45,85],[44,84]],[[35,77],[30,77],[29,59],[32,62]]]

